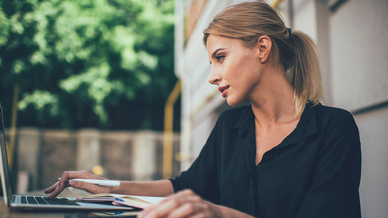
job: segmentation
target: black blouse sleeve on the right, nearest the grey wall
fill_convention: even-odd
[[[328,128],[310,186],[297,218],[360,217],[361,144],[357,125],[347,112],[339,127]]]

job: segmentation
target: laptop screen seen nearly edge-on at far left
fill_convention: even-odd
[[[11,182],[10,182],[9,170],[8,170],[7,148],[5,146],[3,109],[1,107],[1,104],[0,104],[0,119],[1,119],[0,147],[1,147],[1,157],[2,157],[2,160],[0,163],[1,183],[3,188],[4,203],[7,204],[7,206],[9,206],[9,199],[12,196],[12,191],[11,191]]]

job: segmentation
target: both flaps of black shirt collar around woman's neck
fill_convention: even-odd
[[[249,129],[251,123],[255,121],[255,114],[253,114],[252,106],[245,106],[246,108],[239,112],[226,126],[232,129],[238,129],[239,134],[243,134]],[[311,102],[306,104],[298,125],[295,130],[289,135],[289,144],[298,144],[301,140],[306,139],[310,135],[318,132],[317,119],[322,111],[322,104],[314,106]],[[255,126],[255,125],[253,125]]]

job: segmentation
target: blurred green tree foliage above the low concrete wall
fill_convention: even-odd
[[[163,128],[173,0],[1,0],[0,29],[0,101],[10,114],[19,87],[18,125]]]

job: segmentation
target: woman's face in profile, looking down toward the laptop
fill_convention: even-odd
[[[218,85],[230,106],[250,99],[258,86],[261,63],[241,45],[241,40],[210,34],[207,40],[211,63],[209,83]]]

